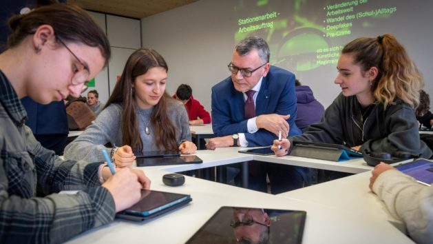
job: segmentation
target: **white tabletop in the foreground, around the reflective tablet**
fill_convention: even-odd
[[[339,210],[332,206],[273,196],[189,176],[186,176],[184,185],[167,187],[161,180],[167,171],[154,167],[146,169],[146,172],[151,178],[152,189],[191,194],[193,201],[187,207],[149,223],[114,221],[85,232],[69,243],[184,243],[224,205],[305,210],[304,244],[412,243],[387,221],[363,212]]]

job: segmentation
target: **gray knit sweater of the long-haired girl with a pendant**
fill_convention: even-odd
[[[137,113],[138,128],[140,137],[143,143],[143,152],[157,151],[155,144],[154,129],[149,123],[150,134],[145,133],[146,123],[149,121],[153,108],[148,110],[140,110]],[[187,110],[182,103],[170,99],[167,106],[167,114],[169,119],[176,128],[176,141],[178,145],[182,140],[191,141],[191,132],[189,131]],[[92,125],[89,125],[86,130],[72,141],[65,148],[65,159],[85,160],[89,162],[105,161],[102,150],[107,148],[104,146],[107,143],[120,147],[122,146],[122,131],[121,131],[121,116],[122,108],[120,104],[114,103],[103,110],[98,115]],[[141,118],[140,118],[141,116]],[[111,150],[111,148],[109,148]],[[108,152],[109,153],[109,152]]]

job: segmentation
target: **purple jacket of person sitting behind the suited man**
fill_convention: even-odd
[[[308,85],[298,85],[295,87],[297,98],[297,117],[295,123],[301,130],[312,123],[319,123],[321,116],[324,115],[325,108],[313,95],[313,91]]]

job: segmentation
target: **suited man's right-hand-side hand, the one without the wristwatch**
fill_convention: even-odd
[[[257,116],[257,119],[255,119],[255,123],[257,125],[257,128],[259,129],[264,129],[268,132],[272,132],[276,136],[278,136],[278,133],[281,132],[282,137],[286,138],[290,130],[290,127],[286,120],[290,117],[290,114],[262,114]]]

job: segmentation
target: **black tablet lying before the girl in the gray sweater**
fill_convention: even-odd
[[[137,158],[136,162],[137,167],[203,163],[202,159],[196,155]]]

